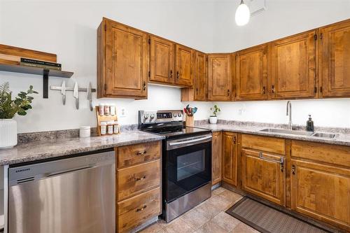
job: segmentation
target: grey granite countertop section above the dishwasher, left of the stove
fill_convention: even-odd
[[[113,148],[115,146],[158,141],[164,138],[164,136],[149,134],[139,130],[131,130],[111,136],[31,141],[29,143],[19,144],[14,148],[0,150],[0,165],[31,162],[50,157],[60,157],[93,150]]]

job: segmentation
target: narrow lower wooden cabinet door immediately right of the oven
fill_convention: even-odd
[[[221,132],[213,132],[211,148],[211,185],[215,185],[221,181],[222,142]]]

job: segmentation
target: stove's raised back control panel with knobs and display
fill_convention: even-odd
[[[182,110],[139,111],[139,123],[141,124],[173,121],[183,121]]]

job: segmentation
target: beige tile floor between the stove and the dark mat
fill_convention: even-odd
[[[225,213],[242,198],[235,192],[219,187],[205,202],[170,223],[159,220],[140,233],[256,233],[257,230]]]

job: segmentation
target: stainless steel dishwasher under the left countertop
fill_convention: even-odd
[[[114,233],[114,152],[8,169],[8,232]]]

